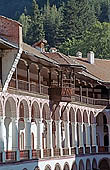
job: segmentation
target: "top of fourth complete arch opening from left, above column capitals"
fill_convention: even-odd
[[[50,116],[50,109],[47,103],[45,103],[43,105],[43,110],[42,110],[42,118],[44,120],[50,120],[51,116]]]

